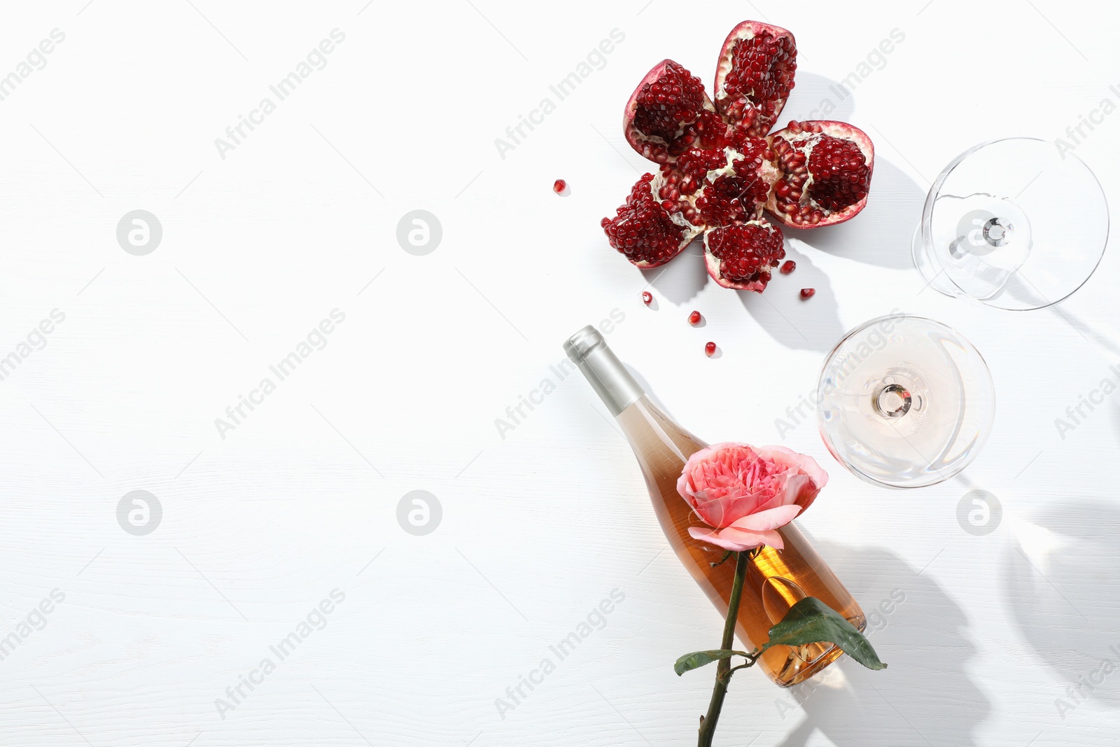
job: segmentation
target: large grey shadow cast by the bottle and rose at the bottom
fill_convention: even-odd
[[[782,719],[796,723],[782,747],[803,747],[816,730],[837,747],[976,744],[972,732],[991,709],[965,670],[976,648],[964,613],[884,548],[814,544],[862,606],[888,669],[872,672],[846,656],[777,695]]]

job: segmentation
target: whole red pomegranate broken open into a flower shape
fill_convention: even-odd
[[[744,21],[724,43],[712,102],[679,63],[654,66],[626,102],[627,142],[660,166],[631,190],[610,245],[640,268],[673,259],[703,236],[708,273],[762,292],[785,256],[782,231],[842,223],[867,205],[875,148],[843,122],[790,122],[767,134],[794,85],[797,46],[777,26]],[[788,274],[790,269],[783,269]]]

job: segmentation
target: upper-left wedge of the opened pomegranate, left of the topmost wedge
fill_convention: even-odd
[[[727,123],[703,90],[703,83],[672,59],[646,73],[623,113],[626,141],[644,158],[675,162],[690,147],[720,144]]]

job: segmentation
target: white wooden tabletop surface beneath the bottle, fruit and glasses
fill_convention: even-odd
[[[3,9],[0,74],[66,36],[0,102],[0,355],[52,309],[65,321],[0,382],[0,635],[52,589],[65,601],[0,662],[0,743],[691,744],[711,673],[671,664],[720,619],[665,550],[625,441],[579,376],[505,438],[494,423],[614,309],[612,346],[685,427],[829,469],[799,524],[866,610],[905,595],[875,625],[887,671],[844,661],[795,692],[740,673],[718,744],[1116,741],[1120,674],[1066,689],[1120,650],[1120,399],[1064,439],[1054,421],[1120,362],[1120,264],[1105,254],[1058,311],[1012,314],[923,291],[908,258],[960,151],[1053,140],[1117,100],[1114,11],[192,2]],[[876,142],[869,206],[788,232],[797,270],[762,297],[707,281],[696,255],[644,276],[599,228],[646,169],[619,128],[633,86],[666,56],[710,84],[745,18],[796,35],[783,121],[905,34],[833,114]],[[215,138],[335,28],[326,67],[223,159]],[[616,28],[601,69],[502,158],[495,138]],[[1118,138],[1120,113],[1076,149],[1114,204]],[[133,209],[162,225],[146,256],[115,239]],[[412,209],[442,225],[424,256],[395,237]],[[336,308],[328,345],[222,438],[215,418]],[[811,422],[775,427],[846,329],[896,308],[969,337],[999,399],[973,466],[917,492],[857,480]],[[982,536],[956,513],[977,488],[1002,505]],[[162,505],[146,536],[116,521],[134,489]],[[423,536],[396,519],[413,489],[442,506]],[[215,699],[336,588],[329,624],[222,718]],[[616,588],[606,627],[503,718],[495,699]]]

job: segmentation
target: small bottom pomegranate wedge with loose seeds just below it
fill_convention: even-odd
[[[785,259],[782,239],[782,231],[765,220],[708,228],[703,236],[708,274],[724,288],[760,293]]]

